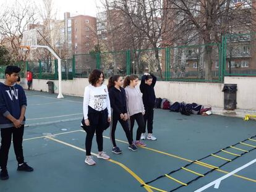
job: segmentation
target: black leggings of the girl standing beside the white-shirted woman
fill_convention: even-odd
[[[124,132],[126,133],[126,138],[129,142],[129,144],[132,144],[132,136],[130,135],[130,130],[129,130],[129,123],[128,121],[124,121],[120,118],[119,114],[113,114],[112,115],[112,121],[111,121],[111,130],[110,130],[110,138],[113,143],[113,146],[116,147],[116,139],[114,136],[114,133],[116,131],[116,125],[117,122],[122,125],[122,128],[124,129]]]

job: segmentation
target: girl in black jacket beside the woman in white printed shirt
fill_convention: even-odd
[[[129,149],[137,151],[137,147],[132,143],[132,136],[130,135],[129,124],[127,122],[127,106],[126,106],[126,91],[122,88],[123,80],[119,75],[114,75],[109,78],[108,90],[109,99],[112,112],[110,138],[113,143],[112,152],[120,154],[122,151],[116,146],[114,133],[116,131],[117,121],[121,123],[124,132],[126,133],[127,140],[129,141]]]

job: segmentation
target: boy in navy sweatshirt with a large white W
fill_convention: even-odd
[[[7,160],[12,137],[15,156],[18,161],[17,170],[25,172],[33,171],[33,168],[24,162],[22,150],[27,98],[22,86],[16,84],[19,78],[19,72],[19,67],[7,66],[5,71],[6,80],[4,83],[0,83],[1,180],[7,180],[9,178]]]

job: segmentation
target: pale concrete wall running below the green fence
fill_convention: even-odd
[[[1,80],[2,81],[2,80]],[[48,91],[48,80],[33,80],[32,89]],[[107,81],[105,81],[106,83]],[[225,77],[224,83],[237,84],[237,109],[256,111],[256,78],[254,77]],[[21,85],[27,88],[23,78]],[[62,81],[63,94],[83,96],[87,78],[74,78]],[[58,81],[54,80],[55,93],[58,93]],[[223,109],[223,83],[194,83],[158,81],[155,86],[156,97],[167,98],[171,102],[197,102],[203,106]]]

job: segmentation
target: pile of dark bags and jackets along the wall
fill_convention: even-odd
[[[158,109],[169,109],[172,112],[181,112],[182,115],[211,115],[211,107],[203,107],[202,105],[196,104],[193,102],[192,104],[186,102],[171,102],[166,98],[156,98],[155,108]]]

